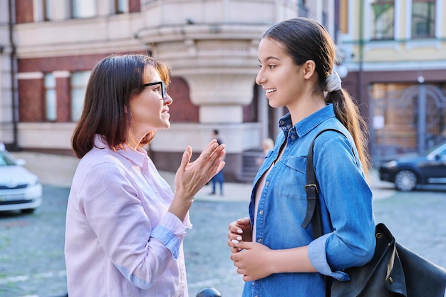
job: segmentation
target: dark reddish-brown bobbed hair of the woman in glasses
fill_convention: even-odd
[[[76,157],[83,157],[93,148],[96,134],[102,135],[113,150],[124,147],[132,120],[126,110],[130,110],[130,98],[144,90],[150,67],[169,85],[170,68],[150,56],[112,55],[95,65],[85,91],[82,115],[71,140]],[[147,133],[140,145],[147,145],[153,137],[155,131]]]

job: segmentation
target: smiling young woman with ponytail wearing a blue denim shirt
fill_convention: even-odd
[[[323,275],[343,271],[375,252],[369,160],[358,106],[333,71],[335,46],[312,19],[274,24],[259,43],[256,83],[273,108],[286,106],[276,146],[254,179],[249,217],[229,224],[231,259],[246,281],[243,297],[323,297]],[[324,234],[301,227],[307,209],[306,156],[313,147]],[[329,288],[328,288],[329,289]]]

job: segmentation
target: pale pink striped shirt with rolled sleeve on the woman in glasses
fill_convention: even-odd
[[[167,212],[170,185],[145,150],[110,150],[99,135],[79,162],[66,214],[70,297],[187,297],[182,241]]]

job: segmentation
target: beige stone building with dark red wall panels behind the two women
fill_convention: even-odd
[[[8,0],[0,6],[0,140],[7,147],[71,153],[95,63],[112,53],[150,53],[169,63],[173,76],[172,126],[148,147],[155,164],[176,170],[187,145],[199,152],[218,129],[227,144],[228,180],[252,178],[249,152],[275,137],[284,113],[269,108],[254,81],[261,33],[299,15],[335,33],[331,0]]]

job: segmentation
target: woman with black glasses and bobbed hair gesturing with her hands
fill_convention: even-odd
[[[209,142],[186,147],[175,192],[144,150],[170,127],[170,69],[143,55],[108,56],[93,69],[72,145],[80,158],[66,214],[70,297],[188,296],[182,241],[194,195],[224,167]]]

